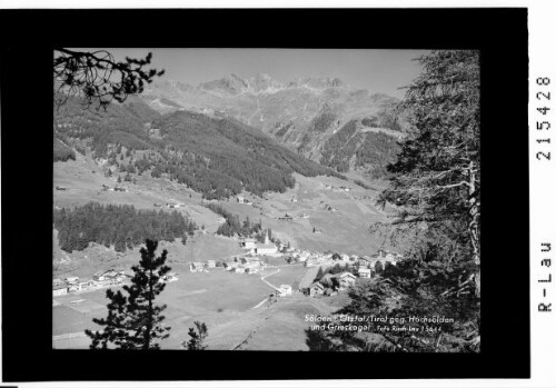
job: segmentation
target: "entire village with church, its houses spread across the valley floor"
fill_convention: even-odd
[[[173,207],[173,205],[171,205]],[[178,205],[179,207],[179,205]],[[255,238],[242,238],[239,246],[244,253],[220,260],[206,260],[189,262],[190,272],[210,272],[212,270],[226,270],[229,273],[260,275],[261,279],[272,275],[268,271],[278,269],[276,259],[282,260],[284,265],[297,265],[307,268],[302,279],[297,285],[274,286],[274,296],[286,297],[292,292],[300,292],[305,296],[334,296],[339,291],[346,291],[356,283],[357,278],[369,279],[381,272],[388,266],[396,266],[403,260],[399,253],[379,250],[370,256],[357,256],[339,252],[311,252],[294,248],[290,243],[270,241],[268,233],[262,242]],[[269,263],[269,258],[275,259],[275,265]],[[330,273],[330,268],[339,271]],[[322,275],[319,277],[319,271]],[[105,269],[95,272],[91,279],[83,279],[77,276],[69,276],[62,279],[52,280],[52,297],[66,296],[69,294],[81,294],[108,287],[120,287],[129,283],[133,271],[130,269]],[[165,275],[159,281],[173,282],[180,279],[177,272]],[[53,305],[56,305],[53,299]]]

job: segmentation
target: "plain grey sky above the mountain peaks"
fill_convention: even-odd
[[[267,73],[280,82],[301,77],[339,78],[370,92],[404,97],[420,71],[411,59],[425,51],[351,49],[109,49],[117,58],[145,57],[152,51],[165,78],[198,84],[235,73],[241,78]]]

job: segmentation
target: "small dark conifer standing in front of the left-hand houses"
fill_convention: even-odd
[[[135,272],[131,286],[123,286],[128,296],[121,291],[108,289],[106,295],[108,317],[93,318],[92,321],[103,327],[101,331],[86,330],[92,339],[91,349],[159,349],[159,340],[168,338],[169,327],[162,325],[165,316],[161,312],[166,305],[156,306],[155,299],[163,291],[166,283],[159,280],[170,271],[166,266],[168,251],[156,257],[158,242],[146,240],[147,248],[141,248],[139,266],[131,269]]]

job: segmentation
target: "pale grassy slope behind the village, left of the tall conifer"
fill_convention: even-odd
[[[270,227],[275,236],[300,249],[314,251],[339,251],[349,255],[375,253],[383,240],[369,236],[368,227],[377,221],[384,221],[386,215],[375,208],[376,191],[366,190],[355,183],[334,177],[306,178],[295,175],[298,182],[294,189],[285,193],[269,193],[268,200],[255,198],[255,205],[262,209],[222,201],[222,206],[242,218],[261,220],[264,228]],[[327,189],[325,185],[335,187],[347,186],[351,191]],[[249,197],[249,196],[248,196]],[[298,199],[292,202],[291,198]],[[325,210],[325,205],[338,211]],[[277,218],[285,213],[299,216],[308,213],[308,219],[295,219],[292,222],[280,221]],[[312,228],[322,230],[314,233]]]

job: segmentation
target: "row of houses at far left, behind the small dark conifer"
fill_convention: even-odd
[[[78,291],[92,290],[107,286],[120,286],[133,277],[131,270],[107,269],[95,272],[92,279],[80,280],[77,276],[52,280],[52,296],[58,297]],[[179,280],[176,272],[165,275],[160,281],[171,282]]]

